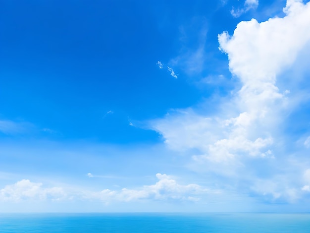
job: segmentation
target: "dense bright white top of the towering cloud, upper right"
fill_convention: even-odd
[[[258,88],[263,82],[272,87],[275,76],[291,65],[309,43],[310,4],[289,2],[284,18],[262,23],[255,19],[242,21],[232,37],[228,33],[219,35],[220,49],[228,54],[230,70],[244,86]]]

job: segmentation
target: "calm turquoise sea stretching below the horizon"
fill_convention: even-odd
[[[0,214],[2,233],[310,233],[310,214]]]

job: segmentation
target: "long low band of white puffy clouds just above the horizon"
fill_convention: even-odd
[[[88,173],[87,176],[100,177],[94,176],[91,173]],[[0,189],[0,201],[60,201],[69,199],[79,199],[84,201],[98,199],[105,203],[168,199],[195,201],[199,200],[201,196],[206,194],[220,193],[218,190],[210,190],[198,184],[179,184],[175,179],[165,174],[158,173],[156,174],[156,177],[158,181],[155,184],[144,185],[137,189],[103,189],[99,192],[86,189],[68,189],[65,192],[62,187],[44,188],[42,183],[34,183],[28,179],[22,179]]]

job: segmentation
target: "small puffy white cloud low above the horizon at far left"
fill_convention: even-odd
[[[42,183],[34,183],[22,179],[15,184],[6,185],[0,190],[0,201],[20,202],[23,200],[42,201],[51,199],[61,200],[66,193],[60,187],[43,188]]]

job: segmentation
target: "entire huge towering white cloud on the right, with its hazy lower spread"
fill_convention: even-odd
[[[256,1],[247,4],[250,3],[255,5]],[[205,161],[210,171],[224,163],[233,165],[226,166],[228,170],[238,167],[240,172],[244,168],[239,179],[257,169],[251,159],[267,159],[266,166],[273,159],[279,162],[276,166],[289,164],[289,155],[279,150],[279,143],[291,143],[291,139],[286,138],[281,129],[285,117],[303,98],[296,98],[298,90],[291,89],[293,87],[288,84],[299,82],[300,77],[288,77],[289,82],[281,78],[285,71],[296,65],[301,54],[303,60],[310,59],[310,53],[304,51],[310,49],[310,2],[288,0],[283,11],[286,14],[283,18],[270,18],[261,23],[255,19],[242,21],[233,35],[228,32],[218,35],[219,49],[227,54],[229,69],[240,81],[241,88],[223,98],[216,109],[206,114],[204,110],[188,108],[152,120],[150,127],[163,136],[167,146],[188,151],[197,163]],[[304,144],[309,145],[308,139]],[[298,176],[300,167],[294,169],[292,174],[301,180]],[[283,173],[282,168],[275,167],[270,179],[281,171]],[[268,190],[263,190],[264,179],[259,179],[259,175],[253,175],[251,179],[254,182],[251,190],[261,195],[271,193],[272,198],[291,201],[300,196],[302,186],[298,185],[301,181],[294,184],[281,178],[281,181],[268,184]]]

